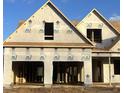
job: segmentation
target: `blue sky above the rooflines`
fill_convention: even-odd
[[[47,0],[3,0],[3,40],[18,26],[19,20],[26,20]],[[96,8],[106,19],[118,20],[120,0],[51,0],[70,20],[83,19]]]

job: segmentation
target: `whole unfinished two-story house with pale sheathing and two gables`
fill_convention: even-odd
[[[48,0],[4,41],[4,85],[119,83],[119,36],[96,9],[74,26]]]

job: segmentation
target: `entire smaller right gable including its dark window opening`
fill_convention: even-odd
[[[93,9],[76,28],[97,48],[107,48],[119,36],[119,32],[96,10]]]

